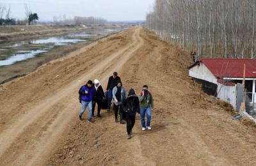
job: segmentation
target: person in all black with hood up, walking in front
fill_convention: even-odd
[[[140,112],[140,102],[134,89],[130,89],[127,98],[124,100],[123,110],[126,118],[126,129],[128,139],[131,139],[132,128],[135,124],[136,112]]]

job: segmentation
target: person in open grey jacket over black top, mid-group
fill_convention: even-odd
[[[118,123],[118,109],[120,114],[120,123],[124,124],[124,114],[122,111],[122,104],[124,103],[126,97],[125,89],[121,81],[117,82],[117,86],[113,88],[113,99],[114,99],[114,110],[115,110],[115,122]]]

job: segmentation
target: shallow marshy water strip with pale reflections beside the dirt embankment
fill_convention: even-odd
[[[12,65],[19,61],[36,57],[44,52],[54,49],[55,47],[73,45],[74,43],[81,41],[93,40],[93,38],[97,38],[99,35],[106,36],[122,30],[123,28],[89,29],[88,31],[67,33],[62,36],[52,36],[15,43],[2,43],[0,45],[0,67]]]

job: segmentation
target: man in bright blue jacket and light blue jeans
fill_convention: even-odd
[[[92,100],[95,94],[95,89],[93,87],[92,80],[88,80],[87,84],[81,88],[81,93],[82,93],[82,98],[81,98],[82,109],[80,110],[78,117],[80,120],[83,120],[82,115],[86,107],[88,106],[88,122],[92,123]]]

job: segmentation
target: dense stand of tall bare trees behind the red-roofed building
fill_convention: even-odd
[[[146,27],[199,57],[255,57],[256,0],[156,0]]]

